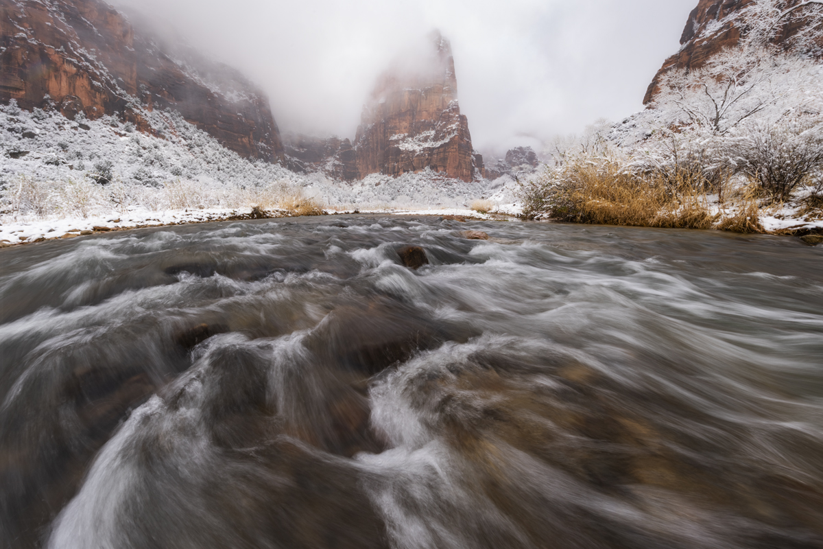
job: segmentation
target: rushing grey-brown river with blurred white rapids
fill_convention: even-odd
[[[2,547],[823,547],[797,240],[175,227],[2,250],[0,304]]]

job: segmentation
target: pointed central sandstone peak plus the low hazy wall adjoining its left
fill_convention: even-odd
[[[287,165],[348,181],[426,169],[463,181],[485,177],[483,157],[473,150],[468,120],[460,113],[451,45],[435,32],[425,48],[379,77],[354,142],[288,134]]]

